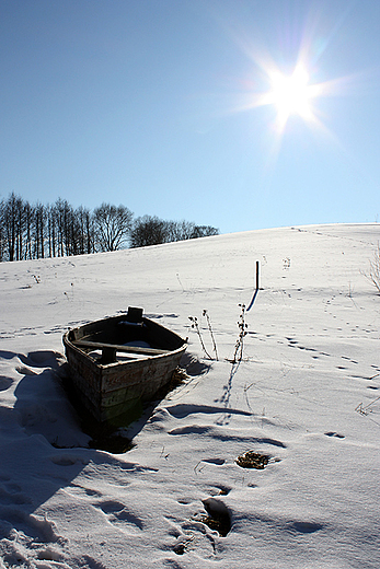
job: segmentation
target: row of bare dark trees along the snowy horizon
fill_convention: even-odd
[[[0,260],[84,255],[218,234],[216,228],[191,221],[135,219],[122,205],[103,202],[93,211],[61,198],[31,205],[14,193],[0,200]]]

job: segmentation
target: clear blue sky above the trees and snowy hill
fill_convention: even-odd
[[[378,0],[0,0],[0,198],[378,221]],[[300,61],[321,86],[279,126],[270,72]]]

